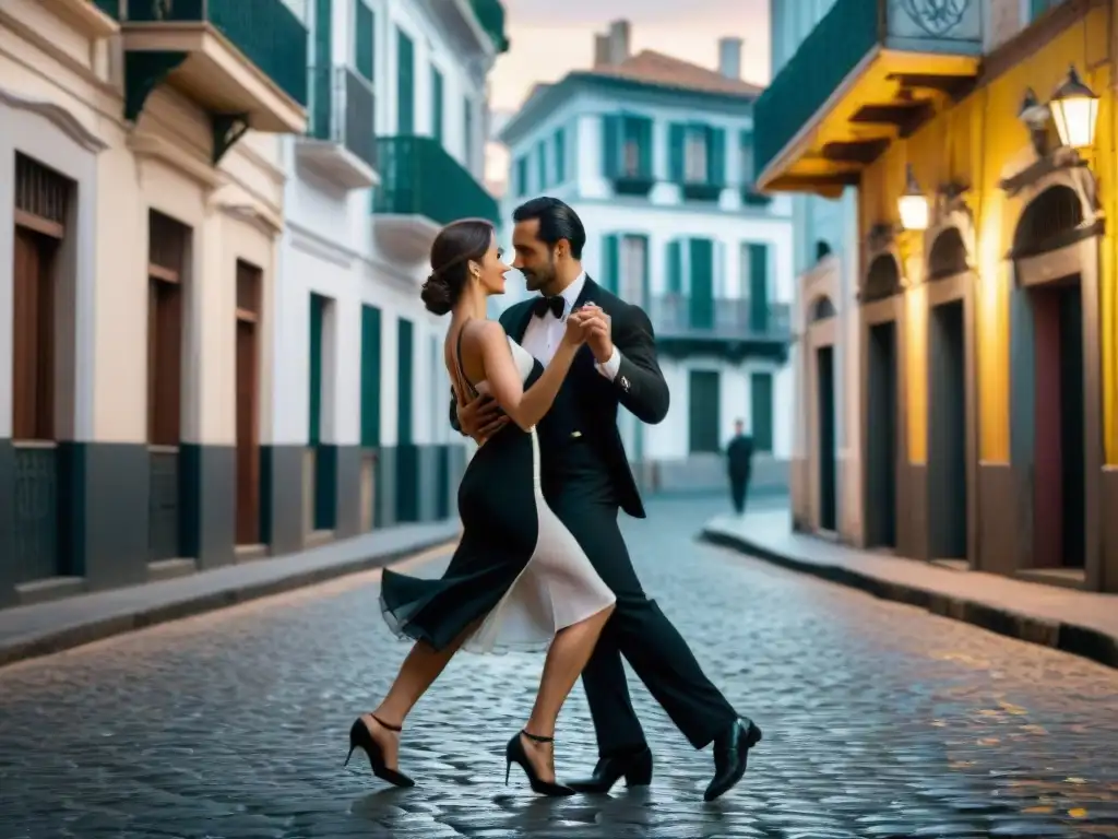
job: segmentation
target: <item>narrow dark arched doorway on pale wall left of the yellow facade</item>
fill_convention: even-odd
[[[891,252],[870,262],[862,285],[863,311],[901,291],[901,270]],[[897,547],[898,338],[890,309],[866,318],[865,541]]]

